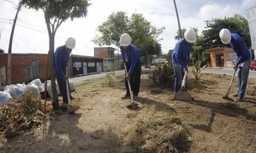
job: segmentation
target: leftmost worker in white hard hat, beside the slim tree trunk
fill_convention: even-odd
[[[76,40],[75,38],[68,38],[65,41],[65,45],[62,45],[58,47],[55,50],[54,54],[54,65],[55,65],[55,74],[56,74],[56,79],[59,85],[60,89],[60,94],[63,99],[63,105],[68,105],[68,97],[71,96],[67,95],[66,91],[66,80],[68,79],[67,74],[65,74],[65,69],[68,66],[70,56],[71,56],[71,51],[73,48],[76,46]],[[71,96],[71,99],[75,99]]]

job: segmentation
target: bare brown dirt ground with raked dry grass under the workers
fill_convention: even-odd
[[[201,84],[189,78],[193,101],[173,100],[172,89],[152,88],[142,74],[138,107],[121,99],[124,74],[112,85],[105,79],[76,86],[75,114],[51,114],[41,128],[21,133],[0,145],[0,152],[188,152],[253,153],[256,150],[256,79],[248,80],[243,102],[222,99],[231,76],[202,74]],[[234,80],[229,96],[238,89]],[[50,101],[49,101],[50,103]]]

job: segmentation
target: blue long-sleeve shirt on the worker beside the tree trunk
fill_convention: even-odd
[[[65,76],[65,66],[68,64],[70,60],[71,52],[65,50],[65,45],[56,48],[54,54],[54,65],[55,71],[60,75],[60,77],[64,78]]]

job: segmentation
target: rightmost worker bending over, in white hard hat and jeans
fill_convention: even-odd
[[[250,64],[252,61],[251,51],[238,33],[230,33],[227,28],[222,28],[219,35],[222,43],[229,43],[237,54],[238,59],[233,69],[235,71],[238,70],[238,93],[233,96],[238,97],[235,101],[241,101],[247,87]]]

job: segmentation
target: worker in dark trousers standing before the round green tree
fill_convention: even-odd
[[[140,77],[141,77],[141,59],[138,48],[131,43],[132,38],[128,33],[123,33],[120,37],[120,49],[123,58],[123,64],[126,64],[128,74],[125,80],[126,94],[123,98],[128,99],[130,92],[128,89],[128,81],[131,84],[133,97],[138,97]]]

